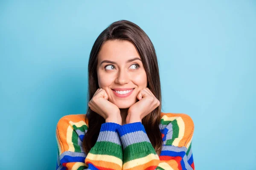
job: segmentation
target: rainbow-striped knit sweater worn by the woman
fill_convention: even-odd
[[[86,154],[82,147],[88,127],[85,114],[62,117],[56,129],[56,170],[195,170],[191,117],[183,113],[161,113],[161,117],[160,156],[141,122],[103,123],[96,144]]]

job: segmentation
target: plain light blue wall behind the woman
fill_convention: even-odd
[[[0,169],[55,169],[58,120],[87,109],[87,63],[117,20],[160,66],[163,112],[195,124],[196,170],[256,169],[256,1],[0,1]]]

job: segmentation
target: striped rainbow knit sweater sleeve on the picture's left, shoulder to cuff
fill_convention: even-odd
[[[122,145],[115,123],[104,123],[96,144],[86,155],[82,147],[87,125],[84,121],[59,120],[56,128],[58,156],[56,170],[122,169]],[[86,140],[86,139],[85,139]]]

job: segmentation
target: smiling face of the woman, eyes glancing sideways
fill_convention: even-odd
[[[98,54],[97,75],[99,88],[106,91],[108,100],[118,108],[130,108],[137,102],[140,90],[147,87],[140,55],[135,46],[126,40],[108,40],[102,45]]]

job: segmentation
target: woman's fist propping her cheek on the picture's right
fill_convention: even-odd
[[[126,124],[141,122],[141,120],[147,116],[151,111],[154,111],[160,105],[159,100],[149,90],[149,88],[143,88],[137,95],[139,99],[134,105],[128,109],[128,115],[126,117]]]

